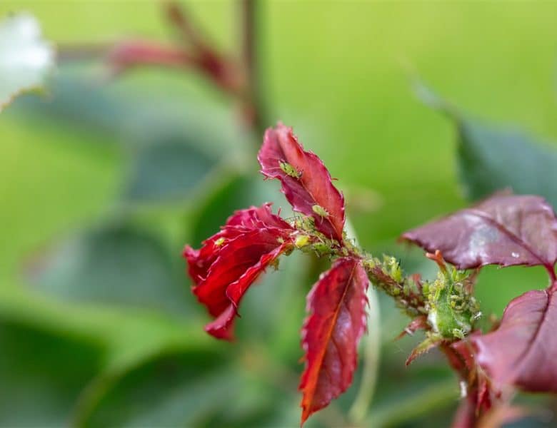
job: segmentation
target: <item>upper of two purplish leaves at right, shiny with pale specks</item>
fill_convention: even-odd
[[[545,265],[557,260],[557,220],[538,196],[495,195],[473,208],[409,230],[403,239],[449,263],[469,269],[483,265]]]

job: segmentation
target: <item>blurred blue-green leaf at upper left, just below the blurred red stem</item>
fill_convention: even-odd
[[[226,106],[187,98],[180,88],[169,93],[125,78],[108,82],[90,67],[63,67],[52,79],[48,98],[21,97],[12,111],[44,116],[81,131],[103,133],[106,141],[135,147],[169,134],[217,158],[248,148],[236,116]],[[147,82],[149,83],[149,82]],[[159,90],[156,90],[159,88]]]

